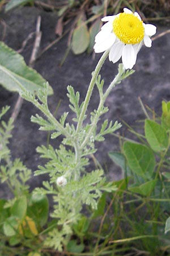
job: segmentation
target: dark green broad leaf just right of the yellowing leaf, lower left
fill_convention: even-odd
[[[28,215],[40,226],[44,226],[48,220],[49,203],[44,195],[33,193],[31,204],[28,207]]]

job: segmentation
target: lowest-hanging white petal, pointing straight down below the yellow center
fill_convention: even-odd
[[[133,48],[131,44],[126,44],[122,51],[122,63],[126,69],[133,68],[137,60],[137,51]]]

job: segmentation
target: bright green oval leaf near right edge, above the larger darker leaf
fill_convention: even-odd
[[[151,148],[155,151],[163,151],[168,147],[168,135],[159,123],[146,119],[145,136]]]

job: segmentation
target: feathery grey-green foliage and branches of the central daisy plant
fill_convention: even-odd
[[[67,122],[69,113],[63,113],[57,120],[50,112],[48,84],[44,84],[44,89],[40,89],[37,96],[27,91],[20,93],[25,100],[32,102],[45,115],[42,117],[36,114],[31,117],[31,121],[39,124],[40,130],[51,131],[52,139],[62,135],[62,142],[58,149],[50,145],[37,147],[37,152],[47,162],[44,166],[38,167],[35,175],[49,174],[50,180],[43,181],[43,187],[36,188],[35,193],[53,195],[54,210],[51,216],[56,218],[59,227],[59,229],[50,230],[45,241],[47,246],[62,250],[62,245],[69,240],[73,224],[80,218],[83,205],[96,209],[97,201],[103,191],[116,190],[112,182],[106,181],[103,170],[87,172],[86,166],[89,164],[89,155],[96,152],[95,142],[103,141],[106,134],[111,134],[121,127],[117,121],[112,123],[107,119],[99,125],[99,120],[101,115],[108,112],[108,107],[104,103],[112,88],[132,72],[125,72],[120,65],[118,75],[105,92],[103,91],[104,80],[101,80],[100,75],[95,75],[96,79],[92,75],[90,87],[97,85],[99,106],[88,119],[86,110],[91,93],[87,92],[85,100],[80,103],[79,92],[75,92],[74,88],[69,85],[67,97],[70,101],[70,110],[74,113],[72,123]],[[96,73],[95,71],[94,74]],[[61,177],[66,181],[63,186],[57,183],[57,179]]]

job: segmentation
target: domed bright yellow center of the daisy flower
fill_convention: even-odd
[[[142,23],[133,13],[120,13],[113,21],[113,32],[125,44],[138,44],[145,35]]]

